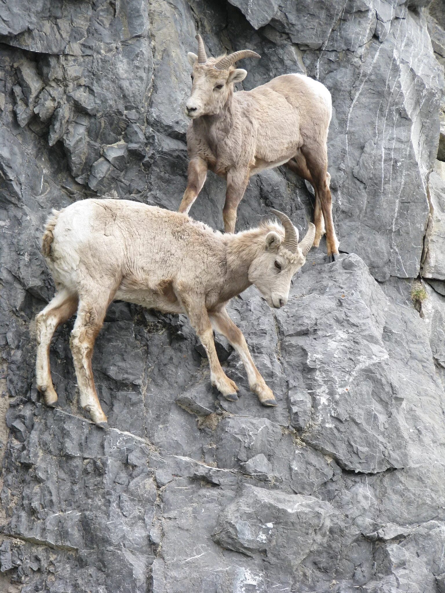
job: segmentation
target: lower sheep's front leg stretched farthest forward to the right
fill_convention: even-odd
[[[265,380],[256,368],[255,362],[253,362],[249,348],[247,347],[246,339],[243,336],[243,332],[233,323],[228,316],[227,311],[222,309],[221,311],[218,311],[218,313],[211,313],[210,320],[215,330],[227,337],[228,341],[239,354],[247,372],[250,390],[257,394],[258,399],[263,406],[276,406],[274,393],[272,393],[272,390],[266,385]]]

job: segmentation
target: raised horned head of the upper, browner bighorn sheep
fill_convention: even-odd
[[[202,115],[216,115],[224,107],[228,96],[233,93],[233,85],[246,78],[247,72],[234,68],[243,58],[260,58],[249,49],[233,52],[222,58],[208,58],[201,35],[198,40],[198,55],[189,52],[187,58],[192,72],[192,93],[186,104],[186,115],[191,119]]]

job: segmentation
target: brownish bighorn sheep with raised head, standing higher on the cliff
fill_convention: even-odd
[[[227,179],[222,211],[226,232],[234,232],[236,211],[250,176],[287,163],[314,188],[314,246],[325,232],[328,256],[338,254],[332,221],[328,173],[328,129],[332,103],[328,89],[302,74],[285,74],[252,91],[234,93],[247,72],[234,68],[243,58],[259,58],[250,50],[207,58],[201,36],[193,66],[192,94],[186,114],[188,181],[179,212],[188,213],[204,186],[207,170]],[[324,220],[323,220],[324,219]]]

